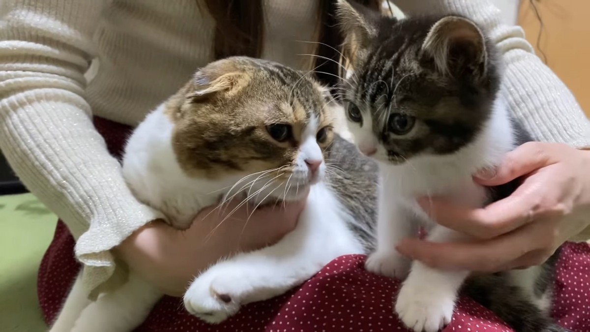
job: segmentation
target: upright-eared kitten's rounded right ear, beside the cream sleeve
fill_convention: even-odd
[[[448,76],[486,71],[486,38],[467,18],[440,19],[428,32],[422,50],[437,70]]]

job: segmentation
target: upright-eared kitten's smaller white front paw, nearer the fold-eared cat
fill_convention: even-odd
[[[405,279],[412,261],[397,252],[376,251],[367,258],[365,269],[389,278]]]

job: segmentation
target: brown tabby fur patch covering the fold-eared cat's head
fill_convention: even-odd
[[[277,181],[286,180],[312,117],[318,130],[330,129],[320,144],[324,153],[332,142],[334,116],[324,90],[309,75],[270,61],[209,64],[166,104],[179,165],[191,177],[211,179],[281,167]],[[290,125],[293,138],[274,140],[267,131],[274,123]]]

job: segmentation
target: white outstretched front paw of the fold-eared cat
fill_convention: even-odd
[[[218,324],[240,310],[241,297],[218,286],[207,273],[196,278],[184,295],[186,311],[209,324]]]

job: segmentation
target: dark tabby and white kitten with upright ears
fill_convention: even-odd
[[[396,298],[399,318],[415,331],[438,331],[450,323],[470,272],[433,269],[395,250],[404,237],[418,236],[420,226],[430,241],[464,237],[431,220],[416,198],[444,195],[483,207],[508,196],[517,183],[484,188],[471,174],[499,165],[530,139],[501,99],[499,54],[470,19],[395,19],[338,3],[349,130],[381,172],[378,244],[366,268],[405,279]],[[564,331],[549,318],[557,256],[529,269],[474,277],[466,290],[517,331]]]

